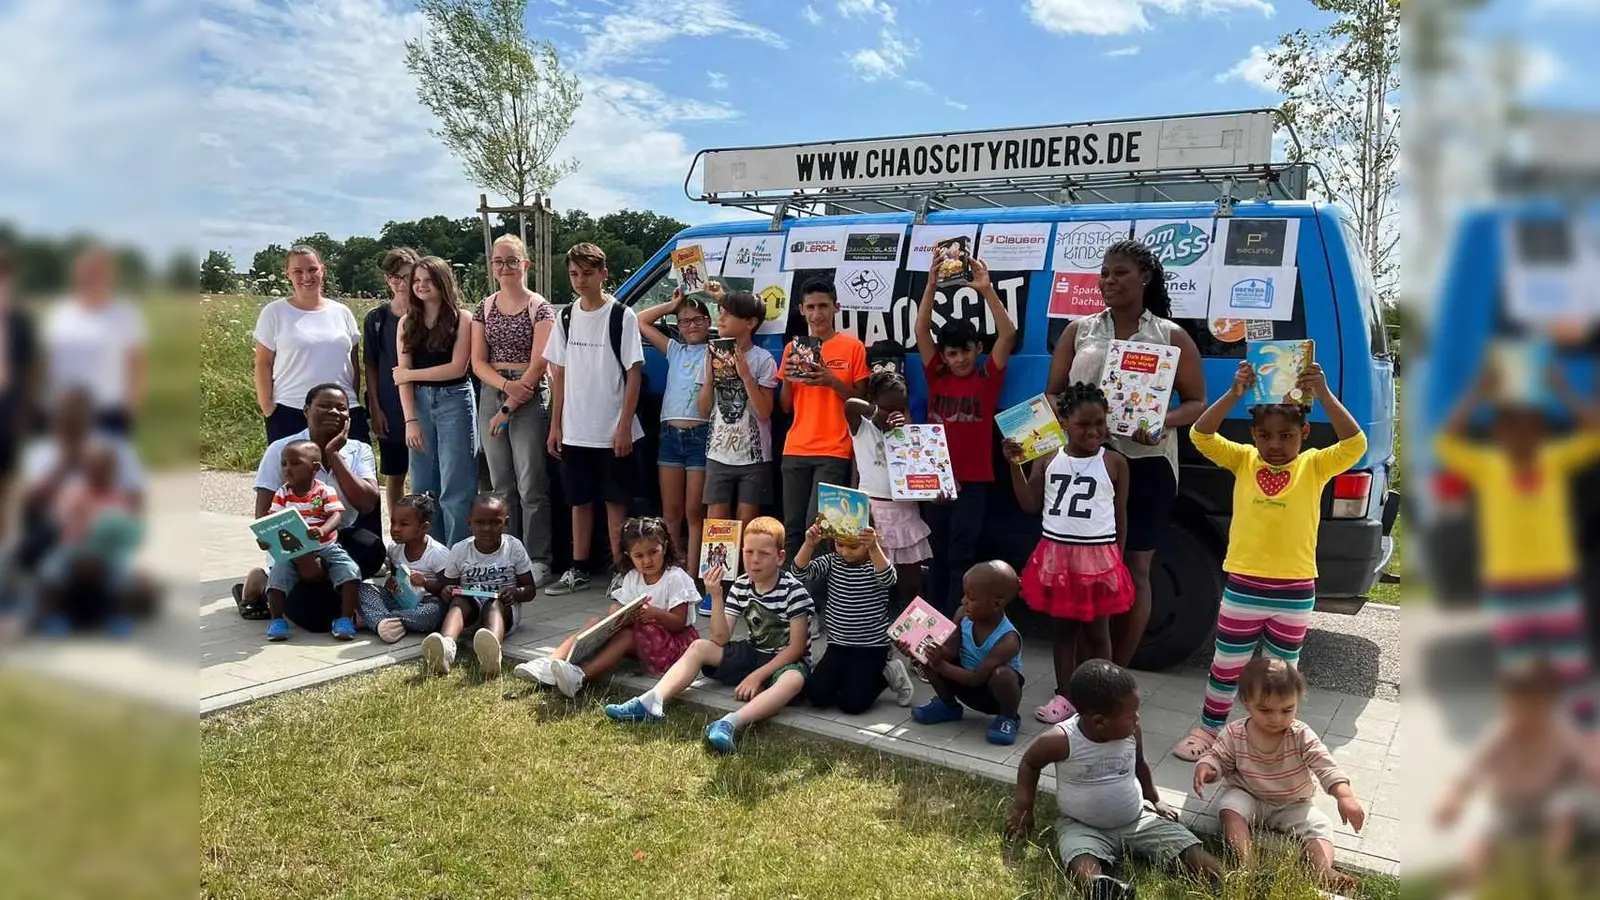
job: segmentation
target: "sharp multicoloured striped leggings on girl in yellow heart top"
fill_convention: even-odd
[[[1238,676],[1256,655],[1256,647],[1299,665],[1299,650],[1306,644],[1306,626],[1317,604],[1317,581],[1312,578],[1290,580],[1254,578],[1248,575],[1227,577],[1222,588],[1222,609],[1216,617],[1216,653],[1211,657],[1211,677],[1205,685],[1205,708],[1200,725],[1216,733],[1227,724],[1238,693]]]

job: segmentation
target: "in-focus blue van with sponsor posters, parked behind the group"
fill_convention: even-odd
[[[1317,360],[1328,376],[1328,384],[1341,397],[1370,439],[1366,456],[1347,474],[1330,484],[1323,496],[1323,525],[1318,541],[1318,602],[1330,609],[1355,612],[1363,594],[1373,586],[1378,572],[1387,562],[1387,535],[1394,524],[1397,504],[1389,485],[1394,466],[1394,365],[1389,354],[1389,336],[1384,328],[1381,301],[1373,282],[1371,267],[1365,259],[1362,243],[1349,216],[1338,207],[1307,200],[1240,200],[1230,213],[1240,218],[1269,218],[1299,221],[1298,266],[1291,319],[1270,325],[1272,338],[1312,338],[1317,343]],[[826,219],[805,219],[806,226],[818,221],[838,226],[874,226],[883,229],[910,229],[914,221],[936,224],[997,223],[1050,223],[1054,234],[1066,234],[1075,223],[1123,223],[1131,235],[1134,223],[1147,219],[1214,219],[1219,205],[1213,202],[1142,202],[1098,205],[1035,205],[994,210],[946,210],[931,213],[874,213],[834,215]],[[768,221],[739,221],[707,224],[685,229],[674,245],[662,247],[616,291],[618,299],[645,309],[670,299],[675,280],[669,264],[669,251],[678,242],[715,243],[733,235],[773,235],[779,248],[789,237],[789,229],[798,219],[774,216]],[[1213,223],[1214,224],[1214,223]],[[1146,237],[1146,235],[1138,235]],[[907,242],[909,243],[909,242]],[[922,296],[926,272],[907,272],[906,253],[894,283],[894,303],[890,312],[842,311],[840,330],[859,336],[869,348],[869,359],[883,360],[904,356],[912,360],[906,375],[912,388],[914,416],[922,415],[926,386],[915,364],[917,299]],[[994,272],[994,282],[1008,311],[1016,320],[1019,335],[1006,373],[1002,407],[1018,404],[1045,389],[1050,356],[1056,340],[1066,330],[1067,320],[1050,315],[1053,275],[1050,259],[1042,271]],[[712,267],[715,269],[714,261]],[[794,291],[814,275],[832,277],[834,271],[797,271]],[[738,288],[736,282],[730,282]],[[984,317],[984,304],[970,288],[954,293],[941,291],[936,306],[936,323],[949,315]],[[1179,323],[1195,338],[1205,356],[1205,375],[1210,399],[1224,392],[1234,378],[1238,360],[1245,356],[1243,333],[1213,335],[1205,319],[1179,319]],[[994,323],[981,322],[979,331],[987,340],[994,336]],[[784,333],[762,335],[757,341],[774,356],[784,343],[805,333],[798,303],[790,304]],[[1266,336],[1266,335],[1262,335]],[[654,418],[659,415],[661,391],[666,378],[666,360],[646,346],[646,397],[640,415],[651,432],[640,452],[653,461]],[[782,447],[787,423],[782,413],[774,415],[774,448]],[[1326,415],[1317,408],[1310,420],[1310,447],[1334,442]],[[1248,418],[1235,412],[1222,432],[1235,440],[1248,442]],[[994,452],[998,460],[998,432]],[[1232,476],[1213,466],[1181,436],[1179,500],[1173,525],[1157,549],[1154,573],[1154,607],[1144,644],[1134,665],[1146,669],[1166,668],[1189,658],[1211,634],[1222,589],[1222,556],[1227,546],[1227,530],[1232,508]],[[1003,464],[997,471],[1005,471]],[[774,477],[774,484],[779,479]],[[776,509],[774,509],[776,512]],[[1010,560],[1021,569],[1038,541],[1038,519],[1029,517],[1010,496],[998,490],[992,495],[989,522],[984,527],[986,546],[981,554]]]

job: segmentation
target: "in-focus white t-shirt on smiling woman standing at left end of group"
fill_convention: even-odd
[[[272,359],[274,404],[304,408],[312,388],[331,383],[344,386],[352,407],[362,405],[350,364],[362,328],[349,306],[325,299],[322,309],[306,311],[288,299],[274,299],[261,307],[254,338],[277,354]]]

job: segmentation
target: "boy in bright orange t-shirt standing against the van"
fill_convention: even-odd
[[[854,335],[834,328],[838,293],[834,282],[811,279],[800,293],[800,314],[808,333],[822,341],[821,364],[794,359],[794,343],[784,346],[778,364],[782,384],[779,402],[794,413],[784,437],[784,532],[792,559],[800,552],[805,530],[816,517],[816,485],[850,485],[854,448],[845,423],[845,400],[867,391],[867,348]]]

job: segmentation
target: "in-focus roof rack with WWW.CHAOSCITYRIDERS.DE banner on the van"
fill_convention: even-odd
[[[1278,130],[1288,159],[1274,162]],[[690,187],[696,170],[699,195]],[[790,216],[912,213],[923,221],[936,210],[1062,203],[1214,202],[1218,215],[1229,215],[1235,191],[1250,183],[1258,199],[1306,199],[1314,170],[1320,178],[1282,110],[1245,109],[709,149],[694,155],[683,194],[770,215],[774,229]]]

